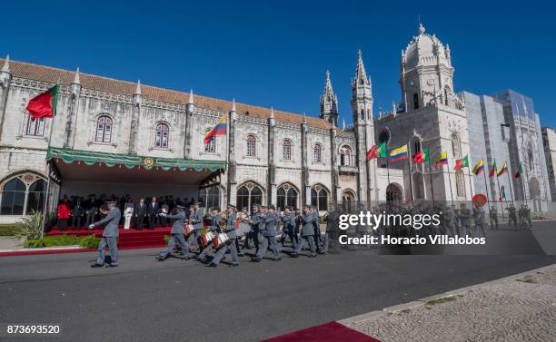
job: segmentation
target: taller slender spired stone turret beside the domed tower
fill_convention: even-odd
[[[355,132],[358,200],[369,205],[370,200],[378,200],[376,191],[376,160],[367,161],[366,152],[374,144],[372,118],[371,79],[367,77],[362,63],[361,50],[357,53],[357,70],[352,80],[353,132]]]

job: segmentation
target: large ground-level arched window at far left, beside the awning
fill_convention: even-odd
[[[46,181],[33,173],[20,174],[6,181],[2,189],[0,215],[26,215],[43,210]]]

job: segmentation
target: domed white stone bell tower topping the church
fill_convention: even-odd
[[[453,68],[448,44],[444,47],[436,35],[425,34],[419,24],[400,61],[402,102],[407,112],[415,112],[441,102],[452,106]]]

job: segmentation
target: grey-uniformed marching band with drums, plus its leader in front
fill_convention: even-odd
[[[117,226],[122,211],[115,201],[108,201],[106,210],[102,213],[105,215],[102,220],[89,225],[90,229],[105,225],[98,258],[92,267],[104,266],[106,246],[111,254],[108,266],[115,267]],[[237,212],[235,206],[229,205],[226,210],[213,208],[209,215],[205,215],[203,203],[195,201],[189,207],[175,205],[174,210],[161,212],[159,216],[173,220],[173,224],[168,244],[155,258],[157,261],[168,259],[176,251],[180,259],[189,260],[194,253],[194,259],[203,262],[205,266],[217,267],[229,252],[232,258],[230,266],[236,267],[239,266],[239,257],[245,256],[250,249],[254,249],[250,253],[253,262],[261,262],[269,250],[272,252],[272,260],[280,261],[286,239],[290,240],[292,248],[287,254],[292,258],[298,258],[303,248],[309,249],[309,258],[315,258],[317,253],[335,251],[333,240],[338,233],[340,213],[331,205],[323,216],[326,221],[324,236],[320,228],[319,212],[312,206],[303,207],[303,211],[291,207],[279,211],[273,205],[253,205],[251,212],[247,209]]]

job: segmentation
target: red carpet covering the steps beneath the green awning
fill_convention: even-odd
[[[103,235],[103,230],[94,229],[81,229],[65,231],[57,230],[56,227],[50,230],[46,235],[76,235],[87,236],[94,234],[97,237]],[[124,226],[120,226],[120,238],[118,239],[118,247],[121,249],[147,249],[152,247],[163,247],[166,245],[164,242],[164,235],[170,235],[170,227],[155,228],[154,230],[124,230]]]

